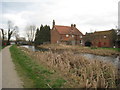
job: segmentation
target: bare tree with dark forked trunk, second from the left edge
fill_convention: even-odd
[[[7,44],[10,44],[10,39],[14,35],[15,31],[18,30],[18,26],[14,26],[11,21],[8,21],[8,40]]]

